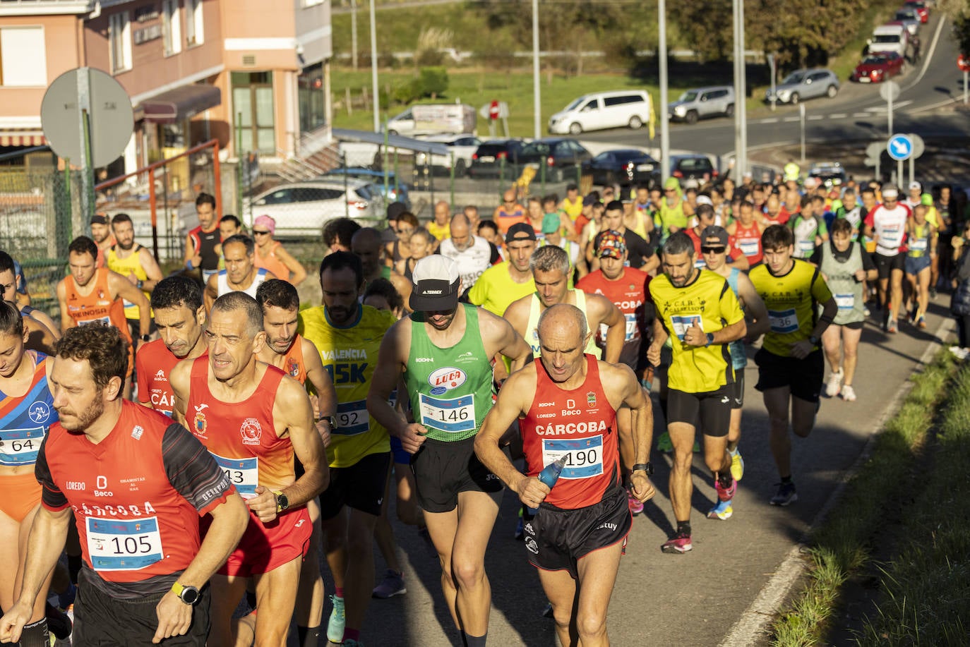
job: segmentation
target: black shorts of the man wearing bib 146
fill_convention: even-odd
[[[418,505],[428,512],[450,512],[459,492],[501,492],[499,477],[475,456],[475,438],[445,442],[428,438],[411,457]]]

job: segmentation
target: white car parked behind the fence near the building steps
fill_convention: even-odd
[[[275,238],[307,239],[320,236],[323,225],[334,218],[350,217],[377,223],[385,217],[384,198],[372,182],[347,178],[310,179],[280,184],[247,201],[243,220],[252,227],[254,218],[271,215]]]

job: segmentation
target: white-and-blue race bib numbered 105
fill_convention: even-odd
[[[87,552],[95,570],[140,570],[162,560],[157,517],[95,519],[88,517]]]

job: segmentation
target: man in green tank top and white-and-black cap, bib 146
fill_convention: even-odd
[[[418,261],[410,306],[380,345],[367,406],[401,438],[411,459],[418,504],[441,561],[441,588],[468,647],[484,647],[491,587],[485,547],[499,514],[501,482],[474,455],[472,443],[492,407],[491,359],[519,369],[529,346],[504,319],[459,304],[458,266],[443,256]],[[404,375],[415,422],[388,403]]]

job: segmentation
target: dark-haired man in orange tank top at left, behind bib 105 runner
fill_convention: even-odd
[[[94,322],[116,326],[129,341],[128,372],[123,394],[131,396],[131,372],[135,367],[134,350],[139,341],[148,341],[151,318],[148,300],[142,291],[122,275],[108,268],[95,268],[97,246],[86,236],[79,236],[68,245],[68,267],[71,274],[57,282],[57,301],[60,303],[61,332]],[[124,316],[123,299],[139,307],[139,337],[132,344],[128,323]]]

